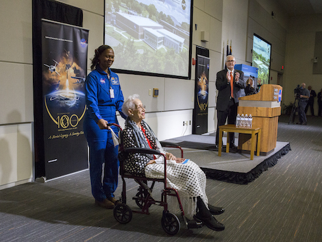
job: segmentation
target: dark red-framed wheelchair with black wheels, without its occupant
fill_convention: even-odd
[[[170,235],[175,235],[177,232],[179,232],[181,228],[181,223],[177,217],[177,215],[174,215],[173,213],[169,212],[168,209],[168,197],[176,197],[176,200],[179,204],[179,210],[181,212],[182,219],[184,221],[184,224],[187,229],[191,228],[201,228],[203,226],[203,223],[201,221],[195,221],[195,220],[189,220],[184,215],[184,209],[182,208],[182,203],[180,201],[180,197],[178,192],[175,189],[172,189],[168,186],[166,186],[166,165],[164,165],[164,178],[162,179],[154,179],[154,178],[146,178],[142,176],[134,176],[131,173],[127,173],[124,170],[124,162],[127,158],[127,156],[131,153],[140,153],[140,154],[153,154],[153,155],[161,155],[164,158],[164,161],[166,162],[166,157],[164,154],[161,154],[156,149],[145,149],[145,148],[127,148],[124,149],[123,142],[122,142],[122,129],[119,125],[115,123],[110,123],[108,125],[115,125],[119,128],[119,162],[120,162],[120,168],[119,172],[123,181],[123,189],[121,192],[121,198],[119,199],[120,203],[116,204],[113,210],[113,215],[116,221],[119,223],[129,223],[132,220],[133,213],[140,213],[149,215],[149,208],[151,205],[158,205],[163,206],[164,210],[162,213],[161,218],[161,226],[163,230]],[[171,145],[166,144],[166,147],[172,147],[180,149],[181,156],[183,158],[183,150],[182,147],[179,147],[177,145]],[[138,206],[138,210],[132,210],[127,206],[127,197],[126,197],[126,182],[125,178],[127,179],[134,179],[138,184],[138,193],[136,193],[135,197],[132,197],[132,199],[135,200],[136,205]],[[148,181],[151,183],[150,186],[148,186]],[[153,187],[156,184],[156,182],[162,182],[164,184],[161,198],[160,200],[153,199],[151,196],[151,193],[153,191]]]

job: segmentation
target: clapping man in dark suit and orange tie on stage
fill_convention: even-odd
[[[236,60],[230,55],[226,58],[226,68],[217,73],[216,88],[219,90],[217,96],[217,131],[216,131],[216,147],[219,144],[219,126],[225,125],[228,117],[228,124],[236,123],[238,98],[240,97],[240,89],[245,88],[246,84],[243,80],[243,71],[234,69]],[[229,134],[227,142],[230,142],[230,147],[236,151],[237,147],[234,144],[234,133]]]

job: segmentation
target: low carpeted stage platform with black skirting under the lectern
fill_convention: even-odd
[[[161,141],[161,144],[173,143],[184,148],[184,158],[196,162],[206,173],[207,178],[237,184],[247,184],[255,180],[263,171],[276,165],[277,160],[290,150],[290,143],[277,141],[275,149],[270,154],[254,156],[253,160],[250,160],[250,154],[225,153],[225,148],[221,156],[218,156],[218,151],[214,150],[215,139],[214,134],[190,134]],[[225,144],[226,137],[223,137],[223,145]],[[235,144],[238,145],[238,138],[235,138]],[[176,149],[166,148],[166,150],[179,156]]]

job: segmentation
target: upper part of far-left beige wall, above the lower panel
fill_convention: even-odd
[[[0,124],[34,120],[31,3],[32,0],[1,1]],[[12,117],[13,111],[17,119]]]

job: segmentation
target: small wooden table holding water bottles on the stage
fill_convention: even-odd
[[[242,134],[251,134],[251,160],[253,160],[253,153],[255,152],[256,134],[257,134],[257,154],[260,155],[260,128],[236,128],[234,124],[226,124],[219,126],[219,147],[218,156],[221,156],[221,147],[223,145],[223,132],[234,132]],[[230,142],[228,141],[229,135],[227,134],[226,153],[230,152]]]

